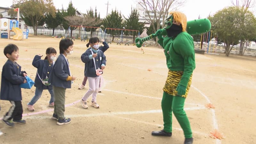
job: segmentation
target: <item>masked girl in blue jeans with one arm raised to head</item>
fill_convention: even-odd
[[[49,75],[52,71],[54,60],[56,60],[56,50],[52,47],[46,49],[46,57],[41,60],[43,55],[38,54],[34,57],[32,65],[37,68],[36,78],[35,78],[35,96],[28,103],[28,110],[34,111],[34,104],[41,97],[43,90],[48,90],[51,94],[51,99],[49,102],[49,107],[54,107],[54,95],[52,85],[48,83]]]

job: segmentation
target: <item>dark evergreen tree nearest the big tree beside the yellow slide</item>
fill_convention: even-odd
[[[51,13],[46,13],[45,23],[47,28],[52,28],[52,36],[54,36],[54,29],[57,28],[62,22],[62,16],[59,12],[55,13],[55,17]]]

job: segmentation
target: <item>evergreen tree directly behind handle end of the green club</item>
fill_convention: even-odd
[[[128,18],[124,17],[124,28],[130,30],[139,30],[140,34],[143,33],[143,29],[145,26],[144,23],[139,22],[139,12],[136,9],[131,8],[131,13]],[[132,35],[133,36],[133,43],[135,42],[135,36],[138,36],[138,32],[133,31],[126,31],[125,35]]]

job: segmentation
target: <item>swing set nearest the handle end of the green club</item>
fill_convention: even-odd
[[[108,44],[116,43],[117,45],[121,45],[125,43],[124,45],[129,46],[130,44],[135,45],[135,38],[140,38],[140,31],[131,29],[105,28],[102,36],[106,41],[108,41]]]

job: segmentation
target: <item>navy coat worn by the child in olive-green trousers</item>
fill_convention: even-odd
[[[48,82],[51,85],[62,88],[71,88],[71,81],[66,79],[70,76],[68,61],[60,54],[54,63]]]

